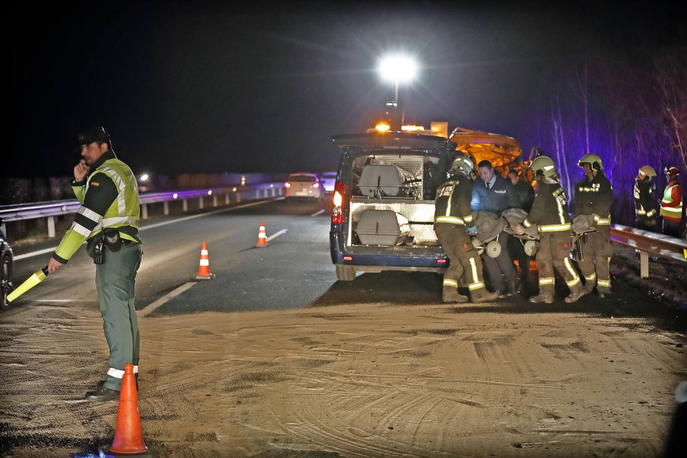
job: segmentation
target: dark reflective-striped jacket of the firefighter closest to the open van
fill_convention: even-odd
[[[464,174],[451,175],[436,190],[434,223],[448,222],[453,225],[473,227],[470,200],[472,181]]]

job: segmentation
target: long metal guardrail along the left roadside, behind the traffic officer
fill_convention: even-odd
[[[212,198],[212,207],[218,207],[221,200],[223,201],[223,205],[229,205],[230,203],[238,203],[242,200],[248,201],[270,196],[281,196],[283,194],[283,186],[283,181],[276,181],[255,185],[205,187],[198,190],[144,192],[139,194],[141,219],[148,218],[148,205],[152,203],[163,203],[164,214],[168,215],[170,202],[181,201],[182,211],[188,211],[189,199],[197,198],[198,206],[202,209],[205,207],[205,199]],[[80,206],[81,204],[76,199],[0,205],[0,218],[2,218],[4,222],[47,218],[48,237],[52,238],[55,236],[55,217],[76,213]],[[5,232],[4,227],[3,232]]]

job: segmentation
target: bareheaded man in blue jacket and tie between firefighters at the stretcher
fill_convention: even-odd
[[[497,174],[491,162],[481,161],[477,164],[477,170],[482,181],[473,182],[473,198],[470,204],[473,211],[494,211],[500,215],[507,208],[522,207],[513,184]],[[508,254],[509,237],[506,232],[499,234],[497,240],[501,244],[501,254],[497,258],[483,256],[491,286],[499,293],[499,297],[514,295],[520,290],[513,260]]]

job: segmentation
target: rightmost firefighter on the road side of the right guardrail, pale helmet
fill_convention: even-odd
[[[590,293],[596,284],[599,297],[606,297],[611,294],[613,187],[603,172],[603,164],[597,154],[585,154],[578,165],[583,168],[585,178],[575,185],[574,212],[594,216],[592,227],[596,227],[596,232],[587,236],[591,255],[585,255],[584,260],[578,261],[578,265],[585,276],[585,293]]]

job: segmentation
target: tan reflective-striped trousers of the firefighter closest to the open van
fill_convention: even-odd
[[[444,273],[444,287],[458,288],[460,278],[465,274],[465,283],[470,291],[471,299],[486,294],[480,255],[473,247],[465,227],[437,222],[434,224],[434,232],[444,253],[451,260],[449,268]]]

